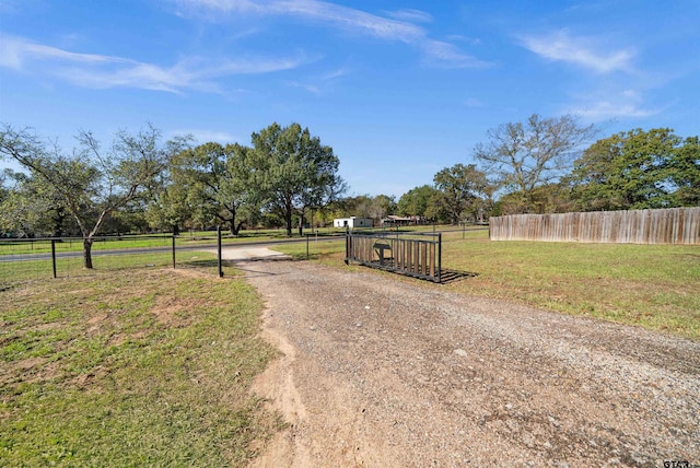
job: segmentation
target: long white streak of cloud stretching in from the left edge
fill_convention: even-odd
[[[2,36],[0,67],[52,75],[86,87],[138,87],[180,92],[194,89],[219,92],[217,78],[289,70],[308,61],[295,58],[187,58],[162,67],[120,57],[80,54],[36,44],[21,37]]]

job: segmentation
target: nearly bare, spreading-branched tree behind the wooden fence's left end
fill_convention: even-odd
[[[571,115],[541,118],[534,114],[525,124],[490,129],[489,141],[476,145],[475,156],[509,192],[521,194],[527,212],[533,210],[535,189],[570,172],[582,145],[597,132],[595,126],[582,126]]]

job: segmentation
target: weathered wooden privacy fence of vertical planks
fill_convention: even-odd
[[[514,214],[489,220],[491,241],[700,245],[700,207]]]

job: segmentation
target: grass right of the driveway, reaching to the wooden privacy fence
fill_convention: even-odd
[[[305,248],[277,247],[298,258]],[[345,267],[341,242],[312,242],[310,253]],[[487,231],[467,231],[464,239],[452,232],[443,236],[442,265],[475,274],[444,290],[700,339],[697,246],[490,242]]]

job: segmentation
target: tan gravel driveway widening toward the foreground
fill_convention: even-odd
[[[372,271],[238,266],[283,353],[254,391],[290,422],[255,466],[700,465],[698,342]]]

